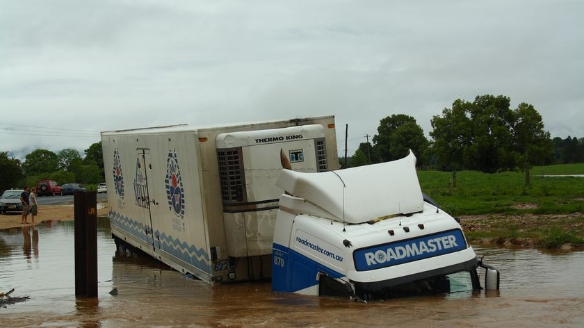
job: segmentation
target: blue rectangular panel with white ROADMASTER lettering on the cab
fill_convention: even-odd
[[[422,238],[359,249],[355,251],[358,271],[386,268],[391,265],[428,259],[467,248],[462,231],[453,230]]]

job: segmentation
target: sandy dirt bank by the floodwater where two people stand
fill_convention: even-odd
[[[107,202],[97,204],[97,215],[106,215],[109,211]],[[8,213],[0,215],[0,229],[10,229],[21,227],[21,213]],[[38,215],[35,216],[35,222],[47,220],[73,220],[73,205],[41,205],[38,208]],[[31,215],[29,214],[29,224],[31,224]]]

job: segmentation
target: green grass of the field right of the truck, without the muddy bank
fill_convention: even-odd
[[[560,214],[584,212],[584,177],[540,177],[544,174],[584,174],[584,164],[534,167],[531,184],[525,172],[487,174],[419,171],[423,192],[452,215]]]

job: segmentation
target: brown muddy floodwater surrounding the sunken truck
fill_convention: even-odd
[[[72,221],[0,231],[0,291],[29,297],[0,307],[0,327],[584,327],[582,251],[475,247],[501,271],[498,293],[364,304],[273,293],[269,282],[209,286],[116,254],[108,220],[98,225],[96,299],[74,296]]]

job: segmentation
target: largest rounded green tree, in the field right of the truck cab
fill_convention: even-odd
[[[457,99],[431,122],[432,150],[443,168],[492,173],[543,163],[551,155],[549,133],[537,110],[525,103],[512,110],[502,95]]]

